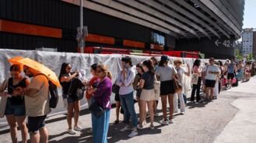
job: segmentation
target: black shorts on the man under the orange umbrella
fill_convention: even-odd
[[[46,115],[38,116],[38,117],[28,117],[28,130],[30,133],[37,133],[40,128],[44,128],[45,123],[44,120]]]

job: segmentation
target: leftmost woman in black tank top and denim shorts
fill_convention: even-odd
[[[17,87],[26,88],[29,84],[29,80],[26,77],[23,77],[21,74],[21,69],[19,65],[13,64],[10,67],[11,78],[9,80],[5,80],[5,82],[1,86],[0,95],[2,98],[6,99],[5,106],[5,117],[8,121],[10,127],[10,134],[12,138],[12,142],[17,141],[17,125],[20,128],[22,134],[22,141],[26,143],[27,141],[27,128],[26,128],[26,109],[25,109],[25,101],[23,94],[16,90]],[[5,85],[4,85],[5,84]],[[6,90],[6,91],[4,91]],[[3,99],[2,99],[3,100]],[[1,100],[1,104],[2,104]]]

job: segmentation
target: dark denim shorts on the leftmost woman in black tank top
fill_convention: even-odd
[[[26,115],[25,103],[20,105],[12,105],[10,100],[8,99],[5,107],[5,115],[11,115],[11,114],[13,114],[14,116],[25,116]]]

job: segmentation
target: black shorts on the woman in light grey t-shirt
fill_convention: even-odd
[[[174,80],[161,81],[160,95],[174,94]]]

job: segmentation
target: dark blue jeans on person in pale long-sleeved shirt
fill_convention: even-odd
[[[132,126],[137,127],[138,118],[135,112],[133,92],[130,94],[120,95],[121,105],[124,109],[124,124],[129,124],[131,117]]]

